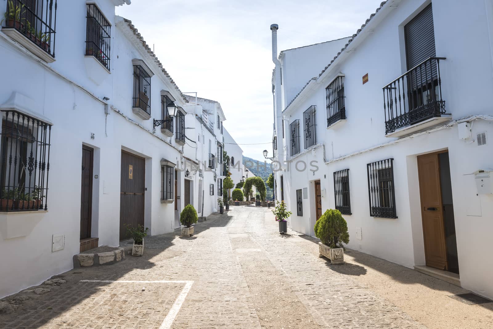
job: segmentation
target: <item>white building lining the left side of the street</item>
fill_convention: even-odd
[[[27,4],[26,20],[0,31],[0,297],[69,270],[79,251],[118,246],[126,225],[171,232],[185,204],[201,203],[191,164],[203,155],[187,146],[199,142],[186,129],[197,129],[195,106],[115,16],[130,0],[69,2],[0,8]]]

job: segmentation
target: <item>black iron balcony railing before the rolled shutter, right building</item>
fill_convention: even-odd
[[[430,57],[382,88],[386,134],[446,114],[440,78],[445,59]]]

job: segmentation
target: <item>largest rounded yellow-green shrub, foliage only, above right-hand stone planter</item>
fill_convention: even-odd
[[[339,210],[329,209],[315,223],[315,236],[330,248],[349,243],[348,223]]]

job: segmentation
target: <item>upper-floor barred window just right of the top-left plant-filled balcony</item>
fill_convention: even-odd
[[[111,25],[94,3],[86,7],[86,56],[94,56],[109,70]]]

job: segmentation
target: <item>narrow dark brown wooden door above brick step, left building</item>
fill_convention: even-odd
[[[80,238],[91,237],[92,177],[94,150],[82,146],[82,178],[80,183]]]

